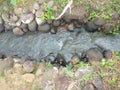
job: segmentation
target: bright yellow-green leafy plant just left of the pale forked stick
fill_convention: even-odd
[[[44,3],[43,5],[44,5],[45,12],[42,13],[41,15],[42,19],[43,20],[54,19],[53,8],[49,7],[46,3]]]

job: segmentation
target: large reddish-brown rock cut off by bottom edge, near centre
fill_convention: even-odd
[[[67,76],[59,75],[55,78],[55,86],[57,90],[67,90],[69,86],[69,78]]]

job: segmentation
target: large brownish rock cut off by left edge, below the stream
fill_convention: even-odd
[[[7,57],[4,60],[0,61],[0,71],[9,70],[13,67],[13,65],[14,61],[12,60],[12,58]]]

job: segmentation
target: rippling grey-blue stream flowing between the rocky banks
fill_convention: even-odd
[[[78,33],[80,32],[80,33]],[[11,32],[0,34],[0,52],[5,55],[25,57],[39,61],[49,53],[61,53],[67,61],[73,54],[81,54],[91,47],[120,51],[120,35],[88,33],[83,28],[75,32],[27,33],[15,36]]]

